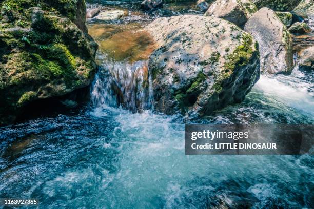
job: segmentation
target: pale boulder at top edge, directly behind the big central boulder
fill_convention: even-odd
[[[221,17],[238,26],[243,26],[257,12],[250,0],[217,0],[210,5],[205,16]]]

